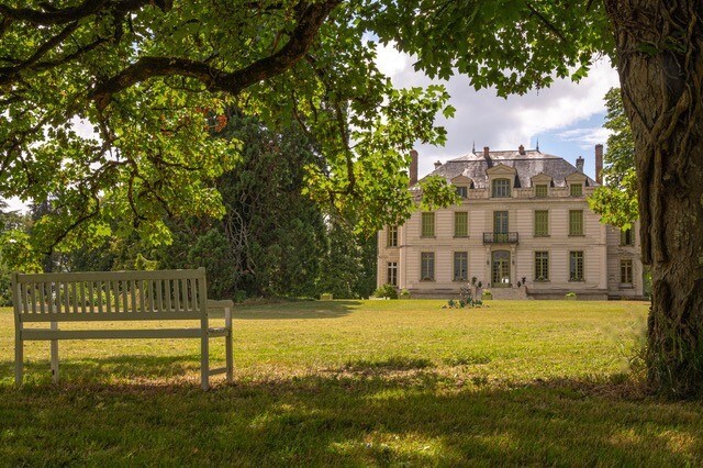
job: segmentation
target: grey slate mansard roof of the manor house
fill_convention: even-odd
[[[447,160],[428,176],[442,176],[448,181],[457,176],[466,176],[473,180],[473,188],[481,189],[488,187],[488,176],[486,170],[503,164],[514,167],[516,170],[514,187],[532,187],[531,179],[538,174],[546,174],[551,177],[553,187],[566,187],[566,178],[577,168],[568,160],[559,156],[538,152],[537,149],[525,149],[525,154],[517,151],[489,152],[489,157],[483,156],[483,152],[468,153],[454,159]],[[595,180],[587,176],[587,187],[598,187]]]

